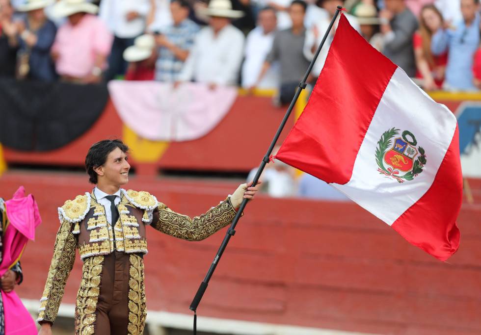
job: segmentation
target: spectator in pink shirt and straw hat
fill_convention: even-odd
[[[107,67],[112,34],[97,16],[98,7],[85,0],[60,0],[53,15],[68,17],[52,47],[57,73],[64,81],[98,83]]]

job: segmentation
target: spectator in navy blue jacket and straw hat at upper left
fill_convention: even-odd
[[[28,0],[17,8],[21,12],[27,12],[25,20],[18,23],[18,75],[21,77],[43,81],[53,81],[57,77],[50,55],[57,28],[44,12],[44,8],[51,3],[51,0]]]

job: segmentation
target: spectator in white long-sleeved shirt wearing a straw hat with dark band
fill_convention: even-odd
[[[231,19],[239,18],[243,13],[231,8],[230,0],[212,0],[204,10],[210,17],[209,26],[196,36],[179,81],[208,83],[211,88],[237,84],[244,35],[231,25]]]

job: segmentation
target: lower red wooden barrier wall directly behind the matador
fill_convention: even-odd
[[[39,299],[58,228],[56,207],[90,186],[78,174],[8,172],[0,196],[19,184],[34,193],[43,218],[22,258],[23,298]],[[218,203],[236,182],[134,179],[186,214]],[[393,335],[481,334],[481,183],[463,205],[459,251],[440,262],[351,203],[259,196],[249,204],[198,309],[204,316]],[[188,305],[225,230],[202,242],[148,232],[147,306],[189,313]],[[75,302],[80,259],[64,301]]]

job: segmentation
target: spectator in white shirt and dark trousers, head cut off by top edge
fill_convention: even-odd
[[[114,34],[112,51],[108,58],[106,79],[124,75],[127,62],[122,54],[134,45],[135,37],[145,31],[146,17],[150,11],[150,0],[102,0],[99,17]]]

